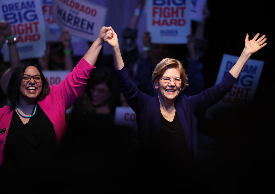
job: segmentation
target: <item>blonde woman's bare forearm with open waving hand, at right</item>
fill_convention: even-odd
[[[254,53],[266,46],[266,35],[260,36],[260,33],[256,34],[252,40],[248,40],[248,34],[246,34],[245,37],[245,46],[243,49],[243,52],[241,53],[241,56],[235,63],[235,65],[230,69],[229,73],[233,75],[233,77],[238,78],[238,76],[241,73],[241,70],[245,66],[247,60],[250,58],[250,56]]]

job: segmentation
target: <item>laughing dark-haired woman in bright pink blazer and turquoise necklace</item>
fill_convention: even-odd
[[[50,180],[46,175],[53,173],[54,153],[66,129],[65,111],[82,93],[108,30],[101,28],[83,58],[58,85],[49,87],[37,64],[23,62],[15,68],[8,85],[10,104],[0,109],[1,180],[21,181],[27,175],[31,182]]]

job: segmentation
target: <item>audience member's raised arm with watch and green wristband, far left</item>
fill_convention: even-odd
[[[3,90],[3,93],[7,94],[9,79],[11,78],[13,69],[15,67],[17,67],[17,65],[19,65],[20,59],[19,59],[17,47],[15,45],[15,42],[13,41],[11,25],[9,24],[9,22],[0,21],[0,34],[1,34],[1,36],[5,36],[5,38],[8,40],[9,61],[10,61],[10,65],[11,65],[10,68],[8,68],[4,72],[4,74],[0,80],[0,84],[1,84],[1,88]]]

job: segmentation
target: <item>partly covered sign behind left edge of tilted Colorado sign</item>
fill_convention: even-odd
[[[58,26],[57,23],[55,23],[54,19],[52,18],[52,1],[53,0],[42,0],[42,11],[46,24],[46,40],[48,42],[59,42],[62,29]]]

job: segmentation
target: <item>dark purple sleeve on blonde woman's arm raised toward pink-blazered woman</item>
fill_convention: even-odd
[[[123,93],[124,98],[127,100],[130,107],[136,113],[145,106],[146,101],[151,96],[142,93],[128,76],[125,66],[121,70],[117,70],[117,77],[119,81],[119,88]]]

